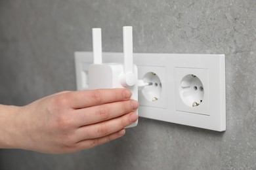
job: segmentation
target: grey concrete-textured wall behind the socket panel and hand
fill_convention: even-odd
[[[0,169],[256,169],[255,0],[1,0],[0,103],[75,90],[74,51],[226,54],[224,133],[140,118],[125,137],[74,154],[0,150]]]

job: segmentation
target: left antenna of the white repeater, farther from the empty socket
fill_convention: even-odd
[[[93,63],[102,63],[102,44],[100,28],[93,28]]]

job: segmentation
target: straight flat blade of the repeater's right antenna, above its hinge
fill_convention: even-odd
[[[123,71],[133,73],[133,27],[123,27]]]

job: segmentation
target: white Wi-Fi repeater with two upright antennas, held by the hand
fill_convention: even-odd
[[[133,64],[133,27],[123,27],[123,63],[102,63],[101,29],[93,28],[93,58],[89,66],[89,89],[128,88],[138,101],[138,69]],[[138,114],[138,111],[136,111]],[[135,122],[127,127],[135,127]]]

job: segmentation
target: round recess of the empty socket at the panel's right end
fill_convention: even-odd
[[[197,75],[186,75],[181,80],[179,93],[188,107],[198,107],[203,101],[203,84]]]

